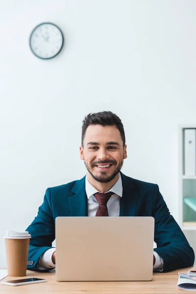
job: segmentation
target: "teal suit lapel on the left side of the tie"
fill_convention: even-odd
[[[85,190],[85,177],[77,181],[71,192],[73,196],[68,197],[70,216],[71,217],[87,217],[88,203]]]

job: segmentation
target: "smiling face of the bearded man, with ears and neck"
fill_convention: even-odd
[[[124,131],[121,137],[115,125],[87,125],[82,128],[80,158],[87,168],[88,181],[105,193],[118,180],[123,159],[127,157]]]

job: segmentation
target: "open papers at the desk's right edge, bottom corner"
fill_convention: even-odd
[[[177,286],[182,290],[196,290],[196,266],[186,272],[178,272]]]

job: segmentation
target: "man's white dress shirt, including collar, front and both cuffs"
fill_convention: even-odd
[[[98,210],[98,201],[97,201],[96,197],[94,196],[94,194],[98,193],[99,191],[96,190],[89,183],[89,181],[87,179],[87,175],[86,175],[86,179],[85,179],[85,189],[86,189],[86,195],[88,198],[88,216],[95,217],[96,212]],[[123,185],[122,185],[122,179],[121,179],[120,173],[119,173],[119,178],[118,178],[117,182],[106,193],[108,193],[108,192],[114,193],[107,202],[109,217],[119,217],[119,215],[120,215],[120,201],[121,201],[121,197],[123,196]],[[52,254],[55,250],[56,250],[55,248],[50,248],[41,256],[39,263],[38,263],[38,268],[40,270],[55,268],[55,264],[53,264],[53,262],[51,260]],[[153,266],[153,270],[162,271],[163,270],[163,259],[158,255],[157,252],[153,251],[153,254],[155,257],[155,264]],[[140,263],[142,266],[142,260],[140,261]]]

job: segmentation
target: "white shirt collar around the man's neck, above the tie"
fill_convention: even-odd
[[[86,195],[87,198],[89,199],[90,196],[92,196],[95,193],[99,193],[99,191],[97,189],[95,189],[88,181],[87,179],[87,175],[85,178],[85,189],[86,189]],[[107,192],[113,192],[114,194],[122,197],[123,196],[123,184],[122,184],[122,178],[121,178],[121,174],[119,173],[119,178],[117,180],[117,182],[114,184],[114,186]]]

